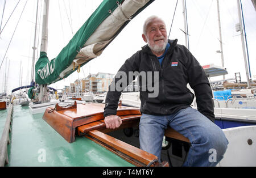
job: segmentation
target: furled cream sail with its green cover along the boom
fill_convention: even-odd
[[[51,84],[67,78],[100,56],[130,20],[153,1],[104,0],[56,58],[49,61],[46,52],[40,53],[35,65],[36,83]]]

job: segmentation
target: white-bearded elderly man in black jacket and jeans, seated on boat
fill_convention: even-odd
[[[142,90],[143,84],[139,83],[141,149],[158,156],[160,161],[164,129],[171,126],[191,142],[183,166],[216,166],[223,158],[228,140],[213,122],[212,90],[203,68],[185,46],[167,39],[166,24],[157,16],[144,22],[142,38],[147,45],[127,59],[118,71],[127,76],[131,71],[159,74],[158,80],[152,80],[150,85],[158,86],[155,97],[149,97],[152,91]],[[118,80],[116,75],[106,96],[104,116],[106,128],[110,129],[122,124],[116,116],[121,91],[113,90]],[[127,84],[131,81],[127,79]],[[187,83],[195,91],[197,110],[190,107],[194,95]]]

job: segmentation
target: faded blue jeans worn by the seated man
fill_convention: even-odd
[[[183,166],[216,166],[223,158],[228,140],[222,130],[191,107],[172,115],[142,114],[139,122],[139,143],[142,150],[160,160],[164,129],[170,126],[191,142]]]

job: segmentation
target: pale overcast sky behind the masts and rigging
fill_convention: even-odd
[[[13,15],[6,24],[11,12],[14,10],[18,0],[6,1],[3,13],[4,0],[0,0],[0,20],[2,20],[0,35],[0,64],[5,56],[6,50],[13,35],[20,14],[27,0],[20,0]],[[7,80],[7,91],[19,87],[20,69],[22,69],[22,85],[27,85],[31,81],[32,46],[34,44],[35,31],[35,0],[28,0],[19,24],[6,53],[5,61],[0,69],[0,92],[3,92],[6,61],[9,66]],[[48,58],[51,60],[59,54],[60,50],[68,44],[73,34],[84,24],[90,14],[100,5],[101,0],[55,0],[49,3],[49,26],[48,26]],[[179,0],[171,29],[170,39],[178,39],[178,44],[185,45],[183,24],[182,1]],[[251,0],[242,0],[243,15],[245,18],[245,28],[247,44],[249,48],[251,76],[256,75],[256,11]],[[42,6],[39,1],[39,9]],[[63,88],[64,85],[73,83],[77,78],[86,77],[89,73],[117,73],[118,69],[132,54],[145,45],[142,39],[142,26],[144,20],[150,15],[158,15],[167,25],[169,33],[174,15],[176,0],[155,0],[141,14],[137,15],[114,41],[104,50],[100,57],[90,61],[82,67],[80,73],[74,72],[70,77],[60,82],[51,84],[53,88]],[[2,16],[3,14],[3,16]],[[41,11],[39,12],[41,15]],[[189,50],[196,57],[201,65],[221,66],[219,31],[217,21],[216,0],[187,0]],[[234,73],[241,73],[242,81],[246,82],[245,63],[242,54],[240,32],[236,32],[238,21],[237,0],[220,0],[221,32],[224,52],[224,65],[228,70],[226,78],[234,78]],[[1,22],[1,21],[0,21]],[[38,19],[38,23],[42,18]],[[5,26],[6,24],[6,26]],[[5,28],[3,28],[5,26]],[[38,25],[38,29],[41,26]],[[40,31],[38,32],[40,33]],[[40,50],[40,35],[39,39]],[[36,41],[38,46],[38,40]],[[7,60],[6,60],[7,59]],[[20,61],[22,68],[20,68]],[[222,79],[214,77],[212,80]]]

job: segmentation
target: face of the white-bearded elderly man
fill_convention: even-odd
[[[151,50],[162,52],[168,42],[166,25],[160,19],[152,19],[146,26],[146,35],[143,34],[142,37]]]

